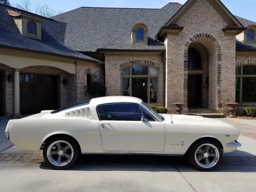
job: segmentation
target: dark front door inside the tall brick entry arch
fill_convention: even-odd
[[[188,107],[202,107],[202,75],[188,75]]]

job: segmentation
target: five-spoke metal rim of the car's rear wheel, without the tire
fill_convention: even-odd
[[[73,158],[74,152],[70,143],[58,140],[53,142],[47,149],[47,158],[55,166],[65,166]]]

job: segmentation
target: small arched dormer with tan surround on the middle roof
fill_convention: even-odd
[[[132,28],[131,33],[132,44],[147,45],[148,44],[148,28],[143,23],[137,23]]]

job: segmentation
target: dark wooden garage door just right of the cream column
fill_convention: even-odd
[[[20,114],[58,108],[58,76],[20,73]]]

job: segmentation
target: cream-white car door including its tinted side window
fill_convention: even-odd
[[[138,104],[103,104],[97,106],[97,112],[104,151],[164,151],[164,123],[150,114],[145,114],[147,120],[142,122],[144,114]]]

